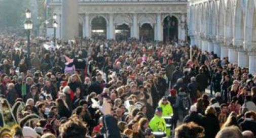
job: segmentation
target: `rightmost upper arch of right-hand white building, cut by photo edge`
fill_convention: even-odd
[[[256,11],[254,1],[248,1],[245,13],[245,42],[256,42]]]

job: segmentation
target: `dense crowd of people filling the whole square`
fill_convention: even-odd
[[[0,34],[0,137],[256,135],[256,76],[228,57],[132,38],[47,43],[32,37],[28,55]]]

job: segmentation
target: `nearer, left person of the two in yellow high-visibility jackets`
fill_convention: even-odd
[[[149,126],[154,132],[166,132],[166,122],[162,117],[162,108],[156,109],[155,116],[150,120]]]

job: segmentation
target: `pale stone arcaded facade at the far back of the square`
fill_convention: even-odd
[[[60,0],[52,0],[49,4],[53,12],[58,15],[57,38],[63,38],[63,33],[68,32],[66,29],[69,31],[74,29],[63,23],[62,18],[66,18],[62,16],[63,12],[65,14],[72,12],[68,6],[65,6],[63,11],[61,8],[63,1],[71,0],[62,0],[62,3]],[[107,39],[115,39],[116,30],[121,26],[128,30],[129,37],[140,38],[141,30],[146,26],[152,29],[152,37],[155,40],[162,41],[173,32],[168,31],[168,34],[165,32],[165,20],[169,18],[177,21],[169,23],[170,28],[176,25],[177,39],[185,40],[187,0],[78,0],[77,10],[78,20],[72,20],[72,24],[79,24],[80,35],[84,37],[91,37],[96,31],[93,28],[98,28],[103,30]],[[97,23],[98,26],[95,25]]]

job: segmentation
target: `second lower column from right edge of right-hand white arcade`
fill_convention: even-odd
[[[243,47],[237,48],[237,53],[238,66],[248,68],[249,59],[247,53],[243,50]]]

